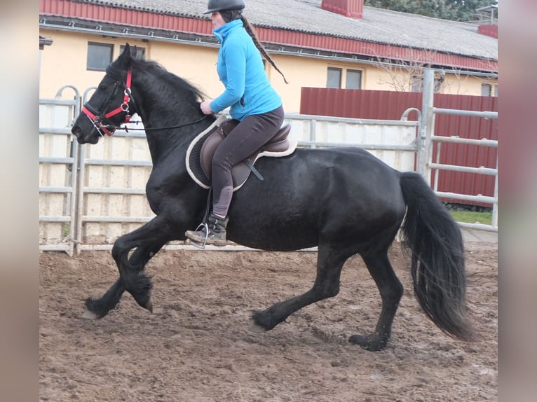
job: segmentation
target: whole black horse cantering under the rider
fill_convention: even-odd
[[[215,117],[203,116],[203,95],[193,85],[134,54],[127,45],[109,65],[72,128],[80,144],[96,144],[137,113],[153,162],[146,193],[156,216],[114,243],[120,279],[101,298],[86,301],[92,317],[104,317],[125,290],[152,310],[145,265],[164,244],[184,240],[186,230],[196,229],[208,200],[208,190],[187,173],[185,155]],[[403,293],[388,261],[388,249],[402,228],[421,307],[448,335],[473,338],[461,230],[419,174],[398,172],[352,147],[297,148],[283,158],[261,158],[256,167],[264,181],[252,176],[235,193],[228,240],[269,251],[317,246],[318,263],[310,290],[255,312],[252,328],[268,331],[301,307],[336,296],[341,268],[360,254],[379,288],[382,308],[374,333],[352,335],[350,342],[382,349]]]

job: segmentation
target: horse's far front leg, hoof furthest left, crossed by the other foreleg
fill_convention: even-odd
[[[151,247],[138,247],[132,252],[129,258],[130,267],[135,270],[135,273],[142,272],[147,262],[162,246],[163,244]],[[119,278],[100,298],[88,298],[86,300],[86,312],[83,314],[83,318],[95,319],[104,317],[110,310],[116,307],[124,291],[125,287],[121,278]]]

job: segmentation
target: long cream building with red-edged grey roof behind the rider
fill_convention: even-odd
[[[433,67],[437,91],[497,96],[497,26],[371,8],[363,0],[247,0],[245,15],[285,74],[266,63],[287,112],[298,112],[302,87],[420,90]],[[40,0],[40,97],[63,85],[97,85],[126,42],[202,88],[222,91],[218,43],[206,0]],[[490,24],[489,24],[490,25]],[[495,37],[496,36],[496,37]]]

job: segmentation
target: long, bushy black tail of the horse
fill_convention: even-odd
[[[419,174],[402,173],[400,183],[407,203],[403,244],[412,252],[414,294],[438,328],[472,340],[461,230]]]

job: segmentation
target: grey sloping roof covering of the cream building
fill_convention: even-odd
[[[207,19],[206,0],[74,0],[132,10]],[[321,0],[247,0],[245,15],[258,27],[383,43],[498,60],[498,39],[477,33],[477,25],[364,7],[353,19],[322,10]]]

